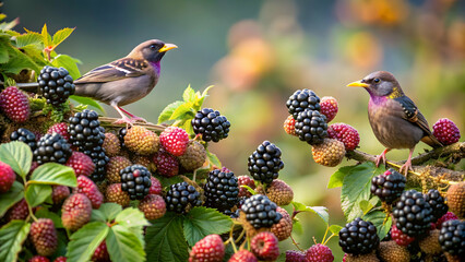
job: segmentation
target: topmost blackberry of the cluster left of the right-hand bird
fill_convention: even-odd
[[[298,90],[286,102],[289,114],[297,120],[299,112],[311,109],[320,111],[320,97],[311,90]]]

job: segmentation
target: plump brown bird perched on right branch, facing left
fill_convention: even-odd
[[[370,95],[368,120],[378,141],[385,150],[375,158],[377,167],[393,148],[408,148],[408,159],[400,171],[405,176],[412,170],[412,155],[419,141],[433,148],[443,146],[431,134],[428,122],[415,103],[405,95],[394,75],[377,71],[347,86],[363,87]]]

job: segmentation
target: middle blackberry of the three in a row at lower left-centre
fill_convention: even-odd
[[[174,183],[165,196],[166,209],[176,213],[187,213],[193,206],[201,205],[200,193],[188,182]]]

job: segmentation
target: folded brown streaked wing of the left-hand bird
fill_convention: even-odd
[[[124,78],[136,78],[143,75],[147,67],[148,63],[144,60],[122,58],[91,70],[74,83],[106,83]]]

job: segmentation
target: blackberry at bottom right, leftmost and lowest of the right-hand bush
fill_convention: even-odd
[[[377,227],[360,217],[347,223],[339,231],[339,246],[349,254],[371,253],[380,245]]]

